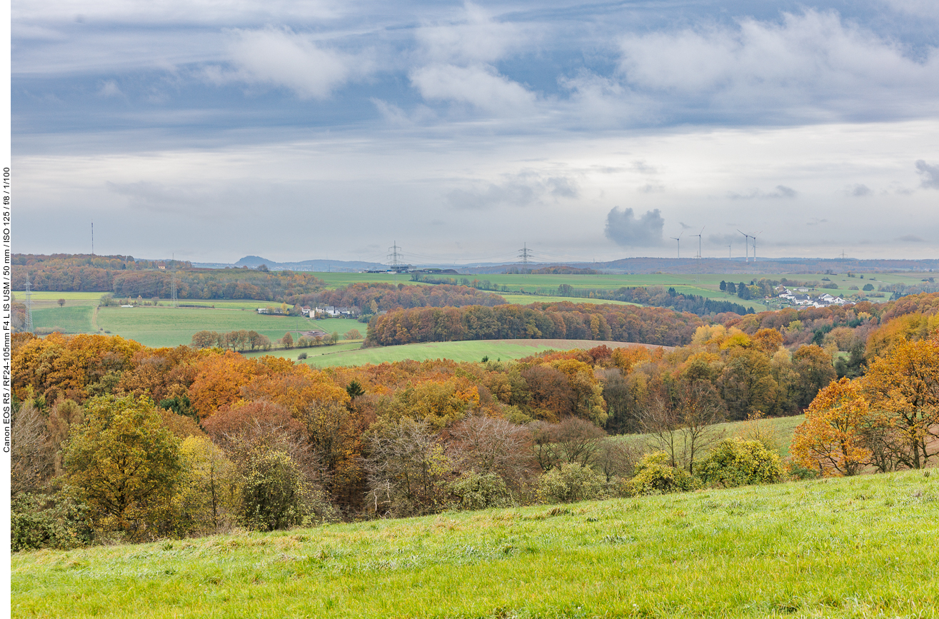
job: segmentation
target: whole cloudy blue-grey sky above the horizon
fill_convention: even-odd
[[[14,0],[12,38],[20,253],[939,254],[934,0]]]

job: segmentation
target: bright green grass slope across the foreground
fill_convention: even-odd
[[[939,474],[18,554],[17,617],[939,617]]]

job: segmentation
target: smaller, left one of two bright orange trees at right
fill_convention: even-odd
[[[795,428],[793,460],[825,477],[861,472],[870,458],[863,445],[868,417],[868,403],[855,381],[832,382],[815,396],[806,421]]]

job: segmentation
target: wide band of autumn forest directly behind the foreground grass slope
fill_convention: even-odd
[[[939,451],[937,309],[921,295],[698,324],[671,350],[322,371],[17,333],[14,548],[921,468]],[[757,422],[799,412],[783,461]],[[742,419],[747,436],[715,429]]]

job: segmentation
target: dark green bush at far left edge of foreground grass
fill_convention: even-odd
[[[91,543],[88,506],[70,497],[23,493],[10,503],[10,548],[72,549]]]

